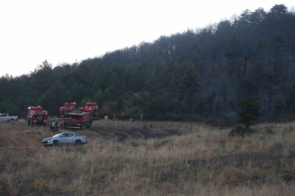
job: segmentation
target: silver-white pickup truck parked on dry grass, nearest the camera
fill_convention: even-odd
[[[86,136],[75,136],[74,133],[60,133],[42,140],[42,146],[70,145],[81,146],[87,143]]]

